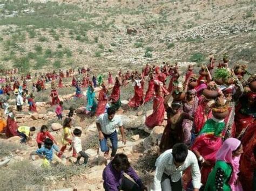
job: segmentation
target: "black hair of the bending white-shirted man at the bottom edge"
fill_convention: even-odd
[[[187,158],[188,149],[184,143],[177,143],[172,148],[172,156],[175,162],[183,163]]]

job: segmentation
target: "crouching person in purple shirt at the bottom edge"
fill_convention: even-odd
[[[129,175],[133,180],[129,180],[124,176]],[[142,180],[131,167],[127,156],[123,153],[116,154],[114,159],[105,167],[103,171],[103,187],[105,191],[147,191]]]

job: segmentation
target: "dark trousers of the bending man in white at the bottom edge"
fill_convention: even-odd
[[[181,179],[178,182],[172,182],[171,176],[164,173],[161,179],[161,189],[163,191],[182,191]]]

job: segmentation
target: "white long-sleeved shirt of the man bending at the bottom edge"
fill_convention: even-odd
[[[152,190],[161,191],[161,178],[164,173],[171,176],[172,182],[178,182],[181,179],[182,172],[188,167],[191,168],[193,187],[200,188],[201,186],[201,173],[198,166],[197,157],[192,151],[188,151],[184,164],[177,168],[173,163],[172,149],[167,150],[158,157],[156,167],[156,174],[154,175],[154,187]]]

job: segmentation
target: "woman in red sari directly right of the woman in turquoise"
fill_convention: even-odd
[[[102,89],[99,91],[99,98],[98,98],[98,105],[97,105],[97,109],[96,109],[96,116],[104,114],[106,104],[107,104],[107,94],[109,93],[109,90],[107,90],[104,82],[102,82],[101,86],[102,86]]]

